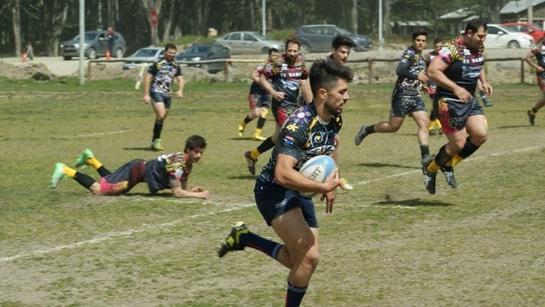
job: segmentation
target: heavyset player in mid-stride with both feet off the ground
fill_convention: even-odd
[[[434,109],[448,139],[434,160],[422,167],[424,186],[430,194],[435,194],[435,179],[440,169],[448,185],[456,188],[450,167],[472,155],[488,138],[485,113],[475,96],[478,80],[486,94],[492,94],[492,86],[486,81],[483,69],[487,34],[488,26],[484,21],[468,22],[463,35],[446,43],[429,65],[429,78],[437,84]]]

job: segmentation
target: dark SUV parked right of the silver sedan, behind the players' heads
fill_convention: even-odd
[[[299,26],[295,34],[301,40],[301,52],[322,52],[331,50],[331,42],[338,35],[346,35],[356,44],[355,51],[367,51],[373,48],[373,41],[365,35],[353,34],[335,25]]]

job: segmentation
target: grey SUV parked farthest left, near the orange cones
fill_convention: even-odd
[[[87,31],[84,33],[84,56],[90,60],[97,57],[104,57],[108,50],[107,31]],[[114,48],[110,50],[112,57],[123,57],[127,48],[125,39],[119,32],[114,32]],[[79,35],[72,40],[67,40],[60,45],[60,55],[65,60],[72,60],[72,57],[79,57]]]

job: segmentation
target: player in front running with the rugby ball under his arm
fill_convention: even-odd
[[[320,258],[314,203],[301,192],[321,194],[326,213],[331,213],[338,186],[336,168],[323,183],[307,179],[299,168],[316,155],[333,155],[337,150],[341,112],[348,101],[348,82],[352,81],[348,67],[326,60],[314,62],[309,77],[314,100],[282,126],[278,143],[254,188],[261,215],[283,244],[251,233],[245,223],[237,222],[218,250],[219,257],[224,257],[227,252],[251,247],[290,269],[286,307],[299,306]]]

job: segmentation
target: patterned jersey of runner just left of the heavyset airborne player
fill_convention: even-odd
[[[409,47],[403,52],[400,62],[397,63],[397,82],[395,82],[392,96],[419,96],[420,82],[418,74],[426,72],[426,61],[420,52]]]

